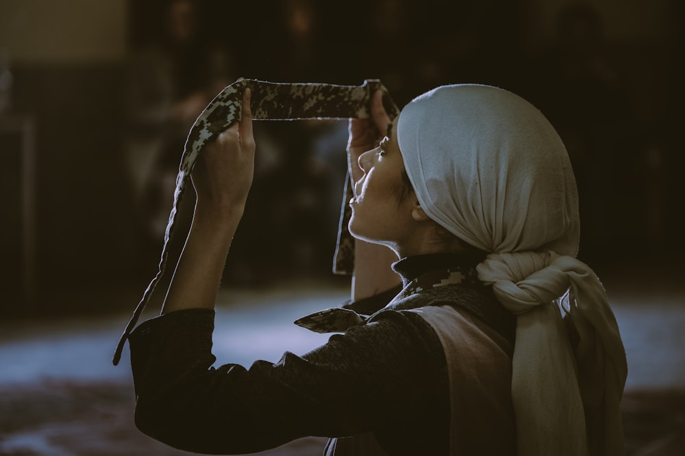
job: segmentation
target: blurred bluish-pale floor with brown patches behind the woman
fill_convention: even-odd
[[[611,304],[629,365],[624,402],[630,454],[685,454],[679,437],[685,429],[685,293],[630,283],[610,282],[607,288],[613,288]],[[327,336],[292,321],[337,306],[347,296],[339,286],[222,291],[214,354],[222,364],[249,365],[256,359],[275,362],[285,350],[305,353]],[[149,440],[132,425],[127,349],[119,366],[111,363],[128,317],[0,323],[0,455],[185,454]],[[664,404],[674,409],[667,417],[659,414]],[[269,454],[316,455],[321,445],[304,440]]]

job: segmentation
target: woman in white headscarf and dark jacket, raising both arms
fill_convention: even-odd
[[[331,455],[623,452],[625,354],[574,258],[569,159],[534,107],[497,88],[443,86],[394,122],[376,94],[348,143],[358,242],[345,314],[358,314],[306,355],[212,368],[214,299],[252,179],[249,101],[193,171],[163,316],[129,338],[142,431],[203,453],[305,435],[331,437]]]

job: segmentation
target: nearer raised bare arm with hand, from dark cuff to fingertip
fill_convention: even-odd
[[[250,90],[240,122],[203,149],[192,170],[197,201],[190,232],[176,266],[162,313],[214,308],[231,241],[245,211],[254,174]]]

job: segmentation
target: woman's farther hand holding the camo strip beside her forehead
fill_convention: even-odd
[[[390,123],[390,117],[383,106],[381,90],[377,90],[371,98],[371,118],[349,120],[347,159],[352,183],[364,175],[359,167],[359,156],[378,145],[379,140],[386,135]]]

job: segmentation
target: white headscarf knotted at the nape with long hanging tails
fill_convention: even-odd
[[[575,258],[577,189],[551,124],[506,90],[446,85],[403,108],[397,139],[425,213],[490,252],[479,278],[517,315],[519,455],[623,454],[625,352],[603,286]]]

